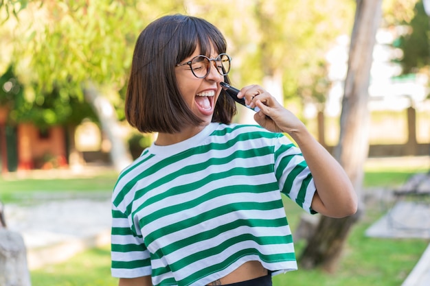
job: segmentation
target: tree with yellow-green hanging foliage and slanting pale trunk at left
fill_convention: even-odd
[[[33,112],[21,112],[27,117],[21,120],[49,115],[42,116],[40,122],[60,123],[58,117],[61,116],[66,121],[73,121],[73,117],[88,115],[84,108],[76,108],[76,104],[84,106],[87,99],[84,95],[91,94],[87,102],[93,104],[98,118],[110,117],[109,124],[102,122],[101,125],[113,146],[113,165],[120,170],[131,163],[131,156],[118,132],[117,119],[122,115],[116,112],[102,114],[102,109],[94,103],[109,98],[104,106],[122,104],[119,91],[126,81],[135,36],[144,25],[139,15],[142,11],[135,7],[137,1],[27,3],[23,0],[1,1],[0,4],[3,8],[0,12],[7,15],[6,24],[13,31],[10,58],[26,86],[27,106],[36,107],[31,108]],[[147,8],[143,6],[142,9]],[[15,16],[11,17],[11,14]],[[100,100],[94,97],[100,97]],[[64,112],[56,108],[63,108]],[[41,112],[35,112],[37,109]],[[111,110],[115,111],[112,107]]]

